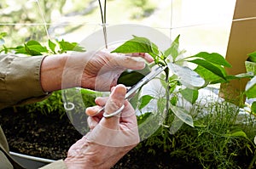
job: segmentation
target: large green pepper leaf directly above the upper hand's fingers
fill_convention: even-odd
[[[136,37],[133,36],[131,40],[120,45],[118,48],[114,49],[111,53],[152,53],[159,54],[157,46],[148,40],[146,37]]]

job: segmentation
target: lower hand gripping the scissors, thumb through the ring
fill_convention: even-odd
[[[125,86],[117,85],[109,98],[97,98],[97,105],[86,110],[90,132],[68,150],[68,168],[110,168],[138,144],[137,118],[125,93]],[[125,109],[119,116],[102,118],[96,112],[105,104],[109,113],[123,104]]]

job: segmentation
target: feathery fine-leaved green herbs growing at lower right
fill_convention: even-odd
[[[207,105],[205,115],[201,115],[201,106],[195,107],[195,115],[200,115],[195,128],[183,126],[169,137],[171,157],[195,159],[203,168],[249,167],[256,149],[251,141],[253,122],[237,121],[239,109],[226,102]]]

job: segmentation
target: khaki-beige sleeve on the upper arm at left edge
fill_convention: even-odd
[[[0,55],[0,110],[15,104],[42,100],[40,68],[44,56]]]

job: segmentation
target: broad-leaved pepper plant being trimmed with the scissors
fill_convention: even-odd
[[[148,38],[133,36],[131,40],[114,49],[112,53],[148,53],[154,58],[153,65],[166,66],[165,76],[160,76],[161,84],[166,89],[165,99],[161,99],[161,102],[163,100],[166,102],[166,114],[163,116],[168,117],[173,113],[180,121],[194,127],[193,118],[189,115],[189,111],[178,104],[179,96],[181,95],[190,104],[195,104],[200,88],[207,87],[209,84],[229,82],[234,77],[227,75],[224,67],[231,67],[231,65],[220,54],[201,52],[183,57],[185,51],[179,50],[179,37],[176,37],[170,48],[160,51],[157,45]],[[188,63],[196,65],[196,68],[190,69],[189,66],[186,66]],[[123,75],[123,83],[125,83],[124,76],[129,78],[126,82],[131,81],[131,75],[127,75],[126,72]],[[140,100],[139,109],[143,109],[152,99],[155,98],[150,95],[144,95],[138,99]],[[170,127],[167,122],[164,122],[163,125]]]

